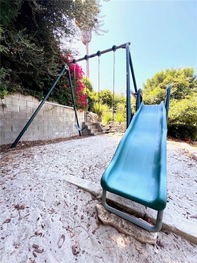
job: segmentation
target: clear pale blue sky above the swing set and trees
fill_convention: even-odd
[[[92,33],[89,55],[131,42],[130,51],[138,88],[161,69],[197,69],[197,1],[101,1],[105,15],[103,36]],[[85,46],[77,42],[81,58]],[[98,91],[98,57],[89,59],[90,81]],[[84,72],[85,63],[80,62]],[[132,86],[131,86],[132,87]],[[100,89],[113,91],[113,52],[100,57]],[[126,91],[126,54],[115,52],[115,92]]]

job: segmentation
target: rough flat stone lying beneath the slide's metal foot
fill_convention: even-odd
[[[113,226],[119,232],[126,234],[127,236],[132,236],[141,243],[156,244],[157,233],[144,230],[135,224],[108,212],[102,205],[97,204],[95,208],[98,218],[103,222],[103,224]]]

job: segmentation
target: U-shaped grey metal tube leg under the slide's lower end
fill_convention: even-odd
[[[106,203],[106,190],[104,190],[104,189],[103,189],[103,195],[102,195],[102,203],[103,203],[104,208],[106,208],[109,212],[111,212],[117,216],[120,216],[120,217],[124,218],[125,220],[127,220],[133,224],[138,225],[141,228],[144,228],[150,232],[159,232],[161,230],[162,220],[163,220],[163,210],[157,212],[156,224],[154,226],[151,226],[146,222],[140,221],[139,219],[137,219],[134,216],[128,215],[124,212],[121,212],[121,211],[109,206]]]

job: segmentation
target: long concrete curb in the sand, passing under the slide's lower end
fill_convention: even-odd
[[[65,180],[89,192],[94,196],[99,197],[102,194],[102,187],[99,186],[97,183],[88,182],[84,179],[76,178],[72,175],[66,175]],[[148,218],[151,219],[151,222],[155,224],[157,212],[151,208],[147,208],[141,204],[132,202],[128,199],[114,195],[109,192],[107,192],[107,202],[114,203],[116,206],[124,209],[125,211],[135,213],[137,216],[140,217],[143,217],[144,214],[147,214]],[[114,214],[110,213],[110,217],[113,216]],[[143,230],[142,228],[140,229],[141,231]],[[169,232],[173,232],[185,238],[186,240],[197,244],[196,222],[183,219],[179,216],[179,214],[173,213],[173,207],[171,205],[168,205],[168,208],[164,210],[162,229],[167,230]]]

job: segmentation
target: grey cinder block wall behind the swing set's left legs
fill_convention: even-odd
[[[3,104],[6,104],[4,108]],[[6,96],[0,108],[1,144],[13,143],[27,121],[37,109],[40,101],[21,93]],[[80,126],[84,112],[77,111]],[[74,126],[75,115],[71,107],[44,104],[27,128],[20,141],[49,140],[78,135]]]

